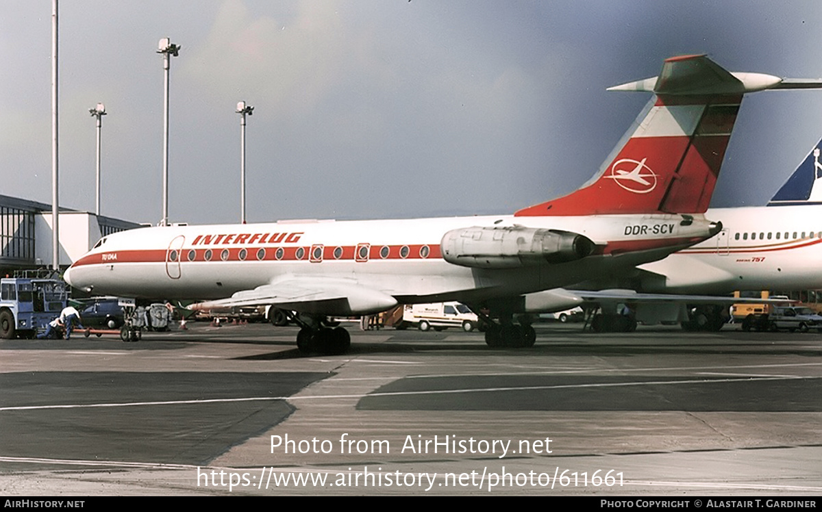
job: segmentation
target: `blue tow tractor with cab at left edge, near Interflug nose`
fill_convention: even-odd
[[[68,286],[51,271],[0,279],[0,338],[34,338],[66,307]]]

